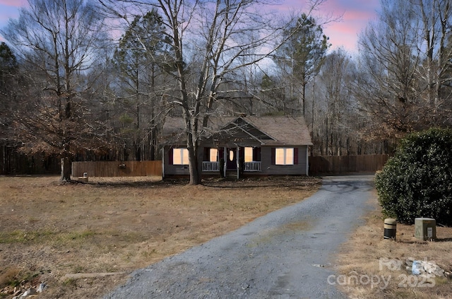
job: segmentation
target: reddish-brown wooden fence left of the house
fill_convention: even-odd
[[[96,161],[73,162],[72,176],[82,177],[143,177],[162,176],[162,161]]]

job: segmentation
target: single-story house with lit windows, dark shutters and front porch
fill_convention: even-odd
[[[184,127],[182,118],[165,120],[163,177],[189,175]],[[198,160],[203,176],[308,175],[311,145],[303,117],[210,117]]]

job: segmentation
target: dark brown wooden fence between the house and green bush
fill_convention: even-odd
[[[341,174],[382,170],[388,155],[309,157],[309,174]]]

